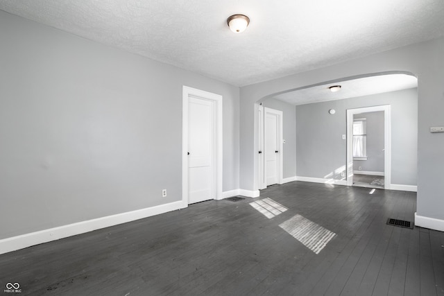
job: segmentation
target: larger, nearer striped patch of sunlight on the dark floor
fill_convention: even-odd
[[[315,254],[319,254],[327,243],[336,236],[334,232],[330,232],[330,230],[300,215],[293,216],[279,226]]]

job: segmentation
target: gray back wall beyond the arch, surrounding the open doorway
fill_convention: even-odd
[[[417,89],[298,105],[296,143],[298,176],[341,180],[345,171],[346,110],[391,105],[391,183],[416,185],[418,141]],[[336,110],[330,115],[328,110]]]

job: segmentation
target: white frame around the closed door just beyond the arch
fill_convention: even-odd
[[[262,112],[261,112],[262,110]],[[283,183],[283,159],[284,159],[284,146],[283,146],[283,132],[282,132],[282,117],[283,112],[280,110],[274,110],[268,107],[263,107],[262,105],[259,105],[259,151],[262,151],[262,153],[258,153],[259,155],[259,189],[266,189],[266,162],[265,162],[265,116],[267,113],[274,114],[278,117],[278,184]],[[259,152],[258,151],[258,152]]]

